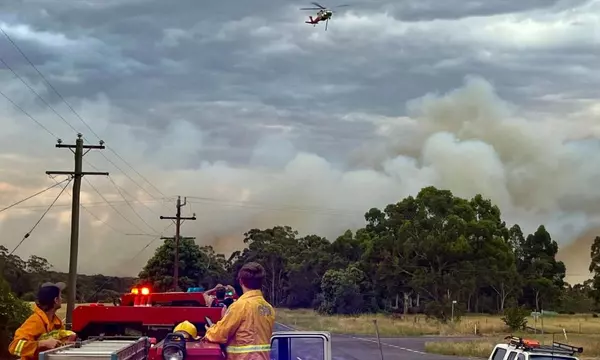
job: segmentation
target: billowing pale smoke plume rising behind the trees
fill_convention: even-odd
[[[108,111],[111,104],[104,99],[80,106],[85,114]],[[547,114],[520,112],[481,78],[468,78],[456,90],[410,101],[406,110],[406,116],[370,119],[369,131],[375,135],[355,143],[351,154],[338,160],[295,144],[285,133],[274,133],[253,143],[246,165],[204,162],[198,154],[203,153],[205,143],[198,139],[206,136],[190,124],[173,123],[165,130],[164,141],[169,140],[169,153],[181,156],[153,158],[150,164],[143,153],[134,151],[130,161],[146,164],[140,171],[149,174],[166,194],[196,195],[188,198],[185,210],[195,211],[199,220],[187,222],[183,235],[196,236],[202,244],[228,255],[243,248],[240,234],[247,229],[276,224],[289,225],[300,234],[333,239],[346,229],[359,229],[364,209],[383,208],[390,199],[414,196],[429,185],[450,189],[466,198],[481,193],[503,210],[508,224],[518,223],[524,232],[533,233],[543,223],[561,246],[598,225],[595,204],[600,203],[600,192],[590,184],[597,176],[596,157],[600,152],[595,143],[578,140],[587,136],[584,129],[590,129],[587,117],[558,121]],[[110,112],[106,114],[99,118],[99,124],[110,120]],[[359,120],[364,120],[359,114],[349,115],[350,123]],[[144,142],[130,138],[124,125],[107,126],[106,133],[115,144],[147,149]],[[171,141],[175,138],[178,141]],[[40,151],[52,151],[53,141],[47,139],[47,148]],[[58,160],[44,160],[43,164],[34,158],[22,161],[31,168],[27,178],[37,171],[40,181],[32,183],[20,176],[6,179],[8,185],[0,187],[0,191],[6,189],[3,202],[16,201],[44,186],[43,169],[71,166],[68,156],[57,153],[56,157]],[[97,154],[90,153],[88,160],[101,169],[111,168]],[[3,161],[8,162],[6,168],[14,165],[9,158]],[[168,176],[158,169],[166,164],[175,167]],[[114,178],[132,194],[126,197],[154,229],[160,232],[168,225],[158,220],[158,215],[172,215],[172,198],[148,198],[139,188],[128,185],[127,179],[118,174]],[[136,219],[108,180],[90,181],[128,220],[144,232],[154,233]],[[17,182],[20,186],[15,185]],[[36,209],[25,207],[1,214],[3,232],[14,235],[7,238],[20,239],[23,229],[37,220],[44,210],[42,205],[53,196],[49,192],[47,198],[36,199]],[[142,203],[136,202],[134,196]],[[69,201],[67,196],[60,200],[64,206],[48,215],[19,254],[36,253],[57,269],[67,268]],[[82,212],[82,271],[136,274],[157,243],[131,260],[148,238],[124,235],[140,230],[102,204],[102,199],[85,183],[82,201],[92,204],[89,210],[118,230],[115,232]],[[172,228],[165,235],[172,235]],[[11,242],[7,247],[14,245]],[[561,259],[567,266],[581,263],[579,259],[570,260],[566,253],[561,254]],[[583,275],[577,281],[583,281],[586,272],[585,266],[570,271]]]

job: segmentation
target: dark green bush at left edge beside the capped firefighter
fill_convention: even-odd
[[[9,358],[8,345],[15,330],[32,314],[31,305],[17,298],[0,277],[0,358]]]

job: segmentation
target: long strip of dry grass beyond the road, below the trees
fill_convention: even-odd
[[[340,334],[372,335],[372,320],[377,320],[382,336],[406,335],[474,335],[477,329],[482,335],[506,335],[507,327],[500,316],[465,316],[455,324],[440,324],[423,315],[393,318],[384,315],[322,316],[312,310],[277,310],[277,321],[299,330],[323,330]],[[534,325],[529,319],[529,326]],[[537,327],[541,324],[538,322]],[[544,319],[546,333],[600,334],[600,318],[591,315],[559,315]]]

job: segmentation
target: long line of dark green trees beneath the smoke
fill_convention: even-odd
[[[242,264],[257,261],[267,271],[264,293],[271,303],[328,314],[425,313],[446,321],[453,303],[457,313],[502,313],[515,306],[575,313],[595,310],[600,300],[594,290],[600,276],[577,285],[564,281],[558,244],[543,225],[525,235],[481,195],[463,199],[426,187],[415,197],[370,209],[365,220],[364,227],[333,241],[298,236],[289,226],[252,229],[244,234],[245,248],[229,257],[183,240],[179,287],[235,284]],[[600,238],[595,249],[592,263],[600,264]],[[139,281],[171,289],[173,259],[174,242],[168,240]]]

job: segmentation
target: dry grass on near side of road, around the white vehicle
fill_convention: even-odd
[[[550,345],[553,341],[552,335],[523,335],[527,338],[540,340],[542,343]],[[554,340],[565,342],[573,346],[583,347],[582,359],[598,359],[600,357],[600,338],[596,335],[568,335],[565,340],[562,335],[555,335]],[[429,353],[442,355],[455,355],[461,357],[477,357],[488,358],[494,346],[500,342],[504,342],[501,336],[485,337],[481,340],[472,341],[434,341],[425,343],[425,351]]]

